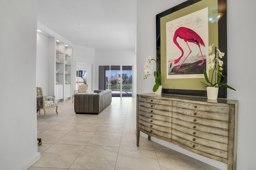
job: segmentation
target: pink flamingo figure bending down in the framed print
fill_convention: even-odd
[[[180,49],[181,55],[180,55],[180,57],[178,59],[175,59],[174,61],[172,61],[170,63],[170,67],[172,67],[173,64],[178,63],[180,61],[180,59],[183,57],[183,55],[184,55],[184,51],[183,51],[182,47],[180,47],[180,45],[177,42],[177,38],[178,37],[183,39],[184,42],[186,42],[187,45],[188,45],[188,42],[195,43],[196,45],[198,45],[200,53],[202,55],[202,63],[199,63],[198,66],[202,65],[204,63],[204,57],[203,57],[203,54],[202,54],[202,51],[201,51],[201,48],[200,48],[200,45],[204,46],[204,42],[203,42],[202,38],[196,32],[194,32],[191,29],[185,28],[185,27],[180,27],[174,33],[173,42]],[[188,49],[190,51],[188,53],[188,55],[190,55],[191,49],[190,49],[189,45],[188,45]],[[186,56],[184,61],[188,58],[188,55]],[[181,67],[181,65],[184,63],[184,61],[180,64],[180,66],[177,66],[176,69],[179,69]]]

